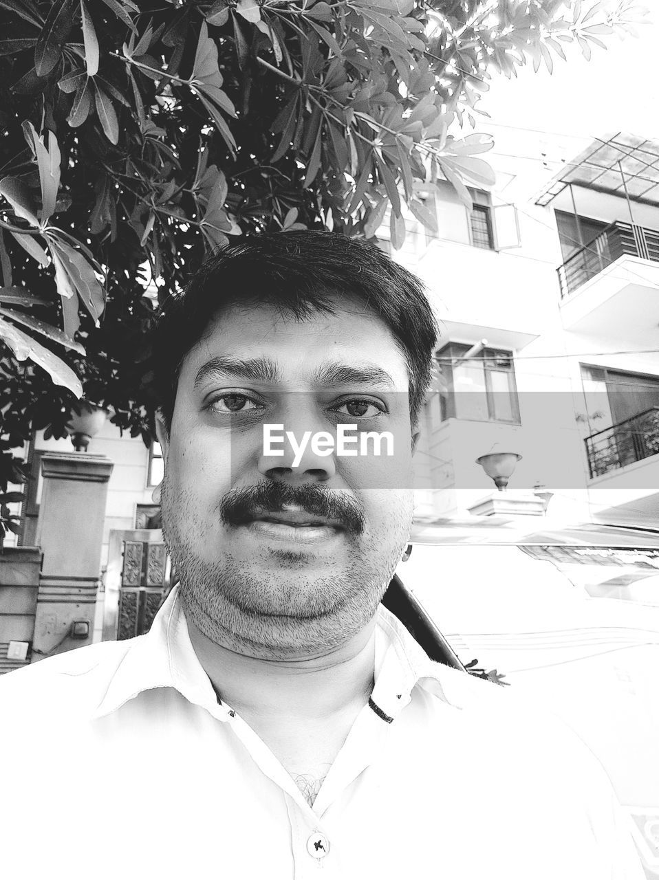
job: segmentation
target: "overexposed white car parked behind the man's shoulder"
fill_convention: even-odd
[[[426,517],[383,600],[433,659],[539,701],[595,753],[659,880],[659,531]]]

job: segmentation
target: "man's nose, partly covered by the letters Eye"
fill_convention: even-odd
[[[270,442],[266,432],[263,433],[258,462],[260,473],[271,480],[286,482],[325,482],[337,473],[336,435],[326,422],[308,413],[287,413],[281,415],[278,424],[281,427],[268,432]],[[325,442],[322,442],[323,435]]]

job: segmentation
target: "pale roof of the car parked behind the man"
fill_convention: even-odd
[[[412,544],[550,544],[659,547],[659,530],[549,517],[418,517]]]

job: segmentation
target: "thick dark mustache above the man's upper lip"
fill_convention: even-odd
[[[315,517],[337,520],[348,532],[364,532],[366,517],[359,503],[350,495],[329,493],[314,483],[288,486],[269,482],[232,489],[219,505],[219,515],[226,525],[241,525],[256,513],[281,513],[285,504],[294,504]]]

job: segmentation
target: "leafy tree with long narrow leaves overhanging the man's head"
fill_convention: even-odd
[[[158,298],[228,237],[373,237],[492,180],[492,75],[633,31],[634,0],[0,0],[0,490],[83,393],[151,439]],[[2,496],[0,495],[0,502]],[[6,517],[5,524],[6,524]],[[2,527],[2,518],[0,518]],[[15,524],[8,524],[15,528]],[[0,532],[2,539],[2,532]]]

